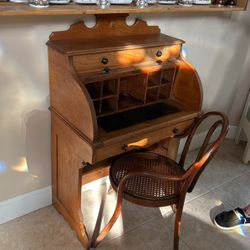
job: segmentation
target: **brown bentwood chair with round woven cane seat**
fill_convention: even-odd
[[[184,168],[191,140],[204,120],[217,117],[207,132],[197,158],[188,168]],[[217,128],[220,127],[219,133]],[[215,132],[216,131],[216,132]],[[96,239],[96,247],[108,234],[120,215],[123,198],[147,207],[171,205],[175,215],[174,249],[179,247],[181,216],[185,196],[192,192],[201,172],[215,155],[228,131],[228,119],[219,112],[209,112],[198,118],[187,133],[187,140],[177,163],[153,152],[131,152],[118,158],[110,168],[110,182],[117,191],[117,204],[113,216]],[[210,143],[211,137],[216,137]]]

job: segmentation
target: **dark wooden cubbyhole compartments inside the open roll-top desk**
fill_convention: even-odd
[[[175,74],[176,67],[169,66],[153,72],[85,85],[94,103],[96,115],[100,117],[166,101],[171,95]]]

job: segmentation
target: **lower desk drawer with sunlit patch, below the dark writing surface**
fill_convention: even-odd
[[[134,150],[136,148],[146,148],[168,137],[182,134],[192,124],[192,122],[193,120],[188,120],[173,126],[161,128],[156,131],[148,132],[136,137],[131,137],[130,139],[99,148],[96,150],[94,162],[99,162],[109,157]]]

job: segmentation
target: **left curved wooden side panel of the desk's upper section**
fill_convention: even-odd
[[[49,49],[51,110],[57,113],[76,132],[94,141],[96,117],[85,88],[75,75],[70,59]]]

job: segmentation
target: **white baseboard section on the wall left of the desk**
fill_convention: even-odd
[[[51,186],[0,202],[0,224],[51,205]]]

